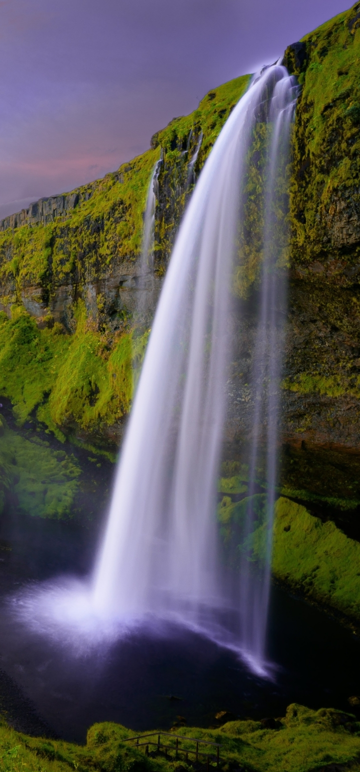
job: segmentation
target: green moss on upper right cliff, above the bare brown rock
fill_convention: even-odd
[[[352,23],[357,11],[355,4],[303,39],[307,66],[301,73],[291,186],[297,264],[341,254],[341,235],[333,229],[337,201],[350,195],[356,208],[360,200],[360,29]]]

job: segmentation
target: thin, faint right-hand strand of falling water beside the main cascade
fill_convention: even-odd
[[[290,124],[294,118],[297,93],[298,86],[294,78],[278,80],[267,105],[266,116],[270,125],[270,147],[265,169],[263,264],[253,357],[254,411],[249,496],[243,532],[243,543],[246,540],[251,543],[256,526],[259,527],[261,523],[262,554],[253,564],[244,550],[239,566],[241,640],[243,652],[255,662],[260,662],[264,656],[270,594],[279,445],[279,391],[287,300]],[[261,466],[261,482],[266,494],[256,494]],[[257,536],[260,536],[259,531]]]

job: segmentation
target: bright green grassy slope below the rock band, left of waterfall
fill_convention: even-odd
[[[36,411],[63,440],[73,425],[96,430],[129,411],[148,333],[124,332],[110,348],[87,322],[80,300],[73,335],[59,325],[39,330],[21,307],[11,320],[0,313],[0,334],[0,394],[12,400],[20,425]]]

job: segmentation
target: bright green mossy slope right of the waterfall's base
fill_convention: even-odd
[[[229,479],[229,487],[233,479]],[[225,486],[221,486],[224,488]],[[301,497],[303,491],[284,489]],[[305,498],[305,496],[304,496]],[[321,500],[314,495],[308,499]],[[348,502],[328,499],[332,506]],[[346,506],[348,504],[348,506]],[[352,502],[352,508],[358,502]],[[248,532],[249,517],[251,530]],[[262,564],[267,556],[267,495],[259,493],[233,502],[223,496],[218,507],[219,532],[226,565],[239,570],[243,556]],[[304,506],[281,496],[274,510],[273,575],[307,598],[333,608],[350,620],[360,621],[360,543],[345,536],[331,520],[322,522]]]

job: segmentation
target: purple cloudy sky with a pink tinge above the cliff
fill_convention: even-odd
[[[0,0],[0,217],[102,177],[348,0]]]

